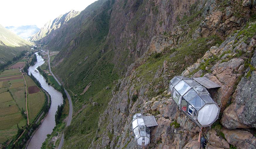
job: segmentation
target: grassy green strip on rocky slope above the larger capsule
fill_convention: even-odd
[[[209,42],[211,41],[211,42]],[[209,42],[209,44],[207,44]],[[134,83],[136,84],[136,89],[139,90],[141,85],[146,85],[149,82],[152,82],[152,88],[146,93],[149,97],[155,97],[160,92],[163,92],[165,88],[162,88],[159,92],[154,92],[153,87],[158,85],[159,82],[163,81],[163,78],[156,78],[154,76],[159,67],[163,66],[163,62],[166,61],[169,64],[168,70],[171,70],[169,75],[170,78],[175,75],[179,75],[182,71],[188,66],[194,64],[194,62],[201,58],[204,53],[209,50],[209,48],[213,45],[222,43],[221,39],[217,36],[211,36],[208,38],[198,38],[197,40],[190,40],[183,43],[179,48],[168,49],[166,48],[164,54],[159,55],[158,57],[154,57],[151,55],[145,64],[139,66],[136,69],[137,77],[142,78],[142,84],[139,84],[136,80]],[[175,55],[170,57],[174,52]]]

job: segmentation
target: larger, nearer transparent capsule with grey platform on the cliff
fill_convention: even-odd
[[[175,76],[169,83],[169,91],[179,109],[199,127],[211,126],[219,117],[220,108],[206,90],[216,87],[220,86],[205,77]]]

